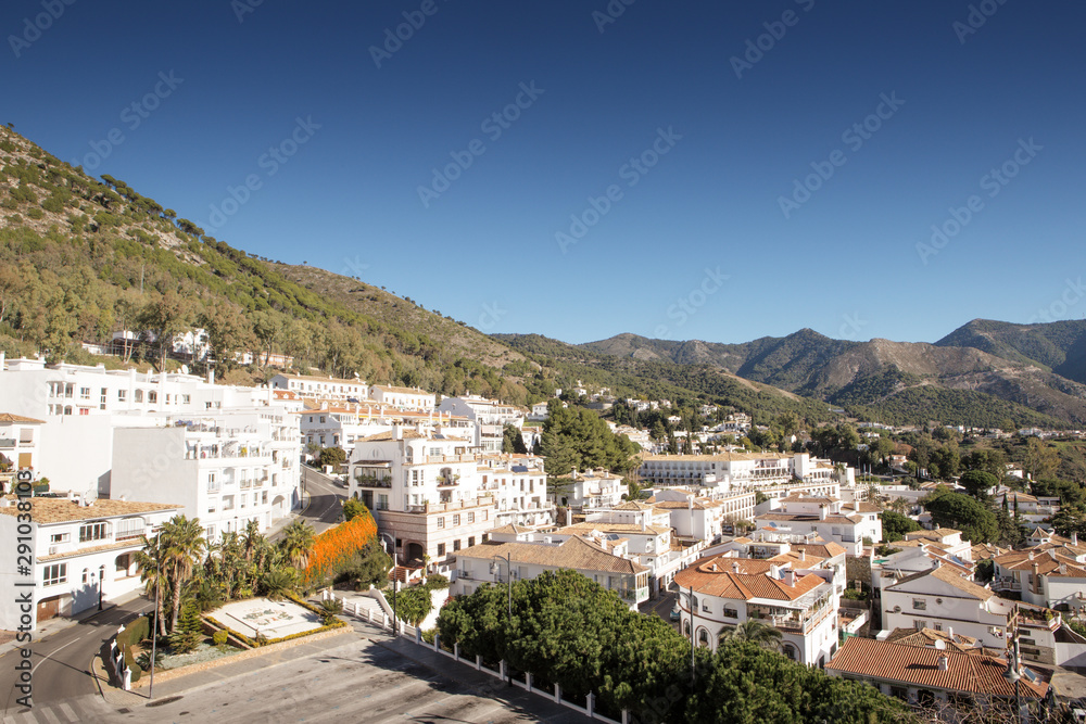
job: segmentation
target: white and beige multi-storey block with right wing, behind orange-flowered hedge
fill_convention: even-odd
[[[542,471],[526,466],[523,471],[488,468],[481,473],[480,466],[487,467],[471,441],[442,429],[396,424],[355,443],[349,495],[374,512],[379,532],[394,541],[401,563],[429,562],[449,570],[458,552],[482,543],[500,518],[547,515]]]

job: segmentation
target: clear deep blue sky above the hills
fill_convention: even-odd
[[[68,2],[0,10],[0,123],[487,332],[1086,315],[1081,2]]]

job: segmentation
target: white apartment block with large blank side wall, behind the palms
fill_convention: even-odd
[[[165,422],[114,430],[111,497],[180,504],[212,541],[250,520],[267,530],[301,505],[294,416],[269,407]]]

